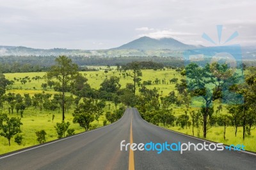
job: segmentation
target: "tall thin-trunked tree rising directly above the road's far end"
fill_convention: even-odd
[[[136,91],[136,82],[139,82],[141,79],[140,77],[142,76],[141,72],[141,66],[140,63],[134,61],[132,63],[127,63],[127,65],[122,66],[124,70],[132,70],[132,73],[129,74],[134,82],[134,94]]]

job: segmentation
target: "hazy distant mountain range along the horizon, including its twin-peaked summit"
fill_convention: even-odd
[[[204,48],[202,45],[188,45],[173,38],[159,40],[143,36],[120,47],[106,50],[79,49],[33,49],[28,47],[1,46],[0,56],[173,56],[182,58],[182,52],[189,49]],[[255,58],[254,47],[244,48],[243,56]]]

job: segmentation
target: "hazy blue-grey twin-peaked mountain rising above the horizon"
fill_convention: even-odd
[[[140,49],[140,50],[186,50],[195,49],[195,45],[187,45],[185,43],[179,42],[173,38],[161,38],[159,40],[154,38],[149,38],[148,36],[143,36],[132,42],[125,43],[124,45],[115,48],[116,50],[123,49]]]

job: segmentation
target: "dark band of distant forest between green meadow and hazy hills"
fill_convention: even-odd
[[[55,56],[3,56],[0,57],[0,72],[47,72],[50,66],[54,65],[55,58]],[[116,66],[125,65],[127,63],[131,63],[132,61],[152,61],[164,66],[184,66],[184,61],[175,57],[128,56],[108,58],[99,56],[70,56],[69,58],[72,59],[72,61],[77,65],[83,66],[81,67],[81,70],[88,70],[86,66]]]

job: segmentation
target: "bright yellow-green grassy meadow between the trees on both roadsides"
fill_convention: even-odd
[[[103,66],[98,66],[97,68],[104,68]],[[120,78],[120,84],[121,88],[125,88],[125,84],[132,83],[132,77],[124,77],[122,73],[115,70],[115,67],[112,68],[113,70],[109,70],[107,73],[104,72],[104,69],[101,69],[99,71],[94,72],[81,72],[83,75],[86,76],[88,79],[88,84],[92,88],[99,89],[100,84],[104,81],[104,79],[107,79],[111,76],[116,76]],[[143,81],[152,81],[151,85],[147,85],[148,89],[156,88],[158,90],[158,93],[160,97],[164,97],[168,95],[171,91],[175,91],[177,94],[177,91],[175,90],[175,84],[170,83],[170,79],[177,78],[177,79],[184,79],[180,75],[179,72],[173,70],[173,69],[166,69],[166,70],[141,70],[143,76],[141,77],[141,82]],[[15,78],[22,78],[22,77],[35,77],[40,76],[43,77],[45,75],[45,72],[38,72],[38,73],[5,73],[6,79],[13,80]],[[156,84],[154,81],[156,79],[161,80],[160,84]],[[162,80],[165,80],[165,84],[162,83]],[[8,86],[8,90],[6,91],[11,93],[20,93],[25,94],[29,93],[30,95],[34,95],[35,93],[58,93],[54,91],[54,89],[47,87],[46,89],[41,87],[41,84],[45,83],[45,79],[39,79],[36,81],[27,82],[26,84],[21,84],[21,82],[15,81],[15,83],[12,86]],[[139,87],[136,87],[136,95],[140,95],[140,92],[138,91]],[[68,94],[70,95],[70,94]],[[202,100],[196,100],[194,101],[194,105],[198,105],[202,102]],[[214,101],[214,107],[217,107],[220,104],[219,100]],[[186,108],[184,105],[181,107],[178,107],[177,105],[172,104],[171,105],[174,115],[179,116],[180,114],[184,114],[186,111]],[[106,107],[104,108],[104,111],[114,111],[115,107],[113,102],[108,102],[106,104]],[[198,107],[190,107],[189,111],[198,111]],[[74,111],[74,108],[71,108],[67,111],[65,114],[66,121],[70,122],[70,128],[74,128],[76,133],[84,132],[84,128],[79,127],[78,124],[72,123],[73,116],[72,112]],[[8,112],[6,105],[4,105],[3,110],[0,112]],[[226,114],[227,109],[225,108],[225,105],[223,105],[223,110],[220,112],[220,114]],[[54,114],[54,120],[52,121],[52,114]],[[215,113],[214,113],[215,114]],[[12,116],[19,116],[16,113],[14,113]],[[103,121],[106,120],[104,114],[100,116],[99,123],[97,121],[93,121],[92,128],[102,127]],[[22,135],[24,136],[23,143],[19,146],[18,144],[14,143],[14,139],[11,141],[11,146],[8,146],[8,140],[4,137],[0,137],[0,154],[19,150],[21,148],[26,148],[28,146],[33,146],[35,144],[38,144],[38,141],[36,141],[36,130],[44,129],[47,132],[46,139],[47,141],[51,141],[54,139],[57,139],[56,130],[54,129],[54,126],[57,122],[61,122],[61,111],[38,111],[33,110],[33,107],[30,107],[29,109],[26,109],[24,111],[24,118],[22,118]],[[108,122],[109,123],[109,122]],[[159,124],[160,126],[163,126]],[[171,130],[175,130],[177,132],[181,132],[184,134],[192,135],[191,127],[186,128],[180,128],[180,127],[167,127]],[[202,137],[202,129],[200,130],[200,136]],[[256,129],[252,130],[252,134],[250,136],[247,136],[246,139],[243,141],[243,129],[239,127],[237,132],[237,137],[235,137],[234,134],[234,128],[233,127],[227,127],[226,129],[226,139],[223,139],[223,127],[212,127],[209,129],[209,132],[207,133],[207,139],[219,143],[224,144],[244,144],[246,146],[246,150],[250,151],[256,151]],[[197,129],[195,128],[195,136],[197,134]]]

